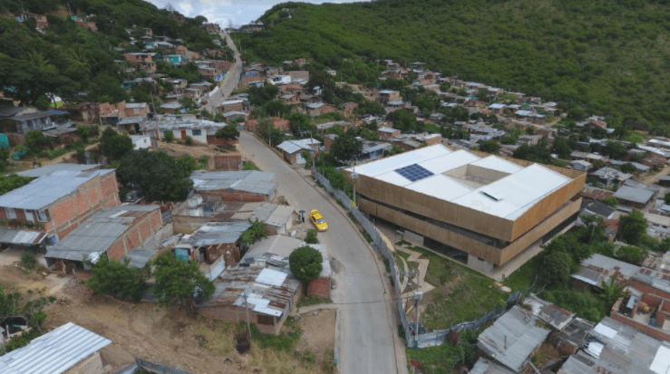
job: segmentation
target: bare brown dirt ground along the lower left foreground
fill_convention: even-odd
[[[51,289],[63,283],[55,274],[24,274],[14,266],[0,268],[0,283],[24,294],[28,289]],[[29,284],[32,287],[26,287]],[[235,336],[246,325],[191,317],[177,308],[158,309],[156,304],[117,302],[92,294],[80,281],[72,279],[56,291],[56,302],[46,312],[44,331],[73,322],[112,340],[102,353],[103,362],[114,370],[132,358],[193,373],[330,373],[335,334],[335,312],[319,312],[300,321],[301,351],[270,350],[252,341],[249,353],[235,350]],[[309,354],[305,352],[309,350]],[[322,360],[325,360],[323,361]],[[328,366],[330,365],[330,366]],[[296,369],[293,369],[294,366]]]

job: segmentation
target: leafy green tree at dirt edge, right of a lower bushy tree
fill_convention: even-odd
[[[216,289],[214,283],[200,272],[198,263],[181,261],[171,252],[159,254],[153,264],[156,284],[151,287],[151,292],[160,306],[170,307],[180,302],[186,312],[194,312],[194,299],[207,299]]]

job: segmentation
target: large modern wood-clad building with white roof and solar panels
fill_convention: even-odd
[[[351,172],[345,170],[349,180]],[[442,145],[356,173],[361,210],[468,254],[483,273],[574,222],[586,180],[576,170]]]

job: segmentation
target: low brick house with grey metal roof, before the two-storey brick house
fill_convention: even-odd
[[[87,258],[95,264],[104,254],[116,261],[129,258],[131,264],[143,267],[164,238],[156,236],[162,226],[160,206],[112,206],[90,216],[56,245],[48,246],[44,258],[50,267],[63,273],[84,270]],[[170,230],[165,235],[171,234]],[[133,255],[140,249],[150,252],[142,254],[143,262]]]

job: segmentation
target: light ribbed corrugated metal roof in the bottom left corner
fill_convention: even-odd
[[[62,374],[112,341],[70,322],[0,356],[2,374]]]

